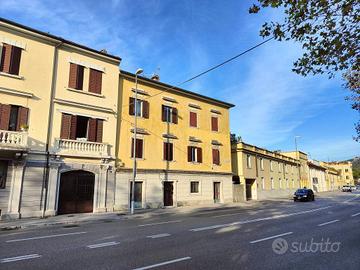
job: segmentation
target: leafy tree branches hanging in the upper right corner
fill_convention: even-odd
[[[358,0],[258,0],[249,13],[263,8],[282,8],[283,22],[266,22],[262,37],[302,44],[303,55],[294,62],[293,71],[307,76],[327,73],[330,78],[342,72],[347,98],[360,113],[360,2]],[[355,125],[360,141],[360,122]]]

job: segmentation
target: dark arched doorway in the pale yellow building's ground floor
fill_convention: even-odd
[[[94,202],[95,175],[87,171],[61,174],[58,214],[91,213]]]

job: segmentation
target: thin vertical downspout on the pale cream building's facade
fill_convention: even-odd
[[[55,45],[54,49],[54,62],[52,69],[52,78],[51,78],[51,89],[50,89],[50,104],[49,104],[49,115],[48,115],[48,127],[47,127],[47,135],[46,135],[46,167],[45,167],[45,176],[44,176],[44,187],[45,187],[45,196],[44,196],[44,205],[42,211],[42,217],[45,217],[46,205],[47,205],[47,196],[48,196],[48,187],[49,187],[49,173],[50,173],[50,140],[51,140],[51,131],[52,131],[52,122],[53,122],[53,112],[54,112],[54,98],[55,98],[55,90],[56,90],[56,76],[57,76],[57,65],[58,65],[58,48],[63,43],[60,42]]]

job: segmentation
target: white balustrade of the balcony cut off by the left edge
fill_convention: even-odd
[[[0,130],[0,149],[23,149],[27,147],[27,132]]]

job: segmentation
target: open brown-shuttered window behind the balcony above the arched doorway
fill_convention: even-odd
[[[60,138],[101,143],[103,137],[103,122],[104,120],[102,119],[63,113]]]

